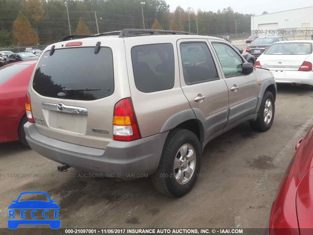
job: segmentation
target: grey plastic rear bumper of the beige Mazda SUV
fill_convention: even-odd
[[[104,177],[132,180],[153,174],[160,161],[168,132],[136,141],[111,141],[106,149],[59,141],[38,133],[35,124],[24,125],[29,146],[58,163]]]

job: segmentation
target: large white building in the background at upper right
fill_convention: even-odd
[[[288,11],[251,16],[251,32],[274,33],[273,30],[287,29],[285,34],[293,34],[292,29],[313,30],[313,6]],[[256,31],[257,30],[257,31]],[[272,32],[265,32],[272,30]],[[283,32],[282,30],[279,30]],[[276,34],[283,34],[278,32]],[[302,33],[303,34],[303,33]],[[309,33],[308,34],[312,34]]]

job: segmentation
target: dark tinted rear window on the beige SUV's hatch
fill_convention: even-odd
[[[95,100],[113,94],[113,57],[109,47],[46,51],[38,63],[33,88],[41,95],[75,100]]]

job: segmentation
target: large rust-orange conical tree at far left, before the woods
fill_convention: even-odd
[[[20,11],[13,22],[13,38],[19,46],[32,46],[39,43],[37,31],[32,28],[27,17]]]

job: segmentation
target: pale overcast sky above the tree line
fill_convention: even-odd
[[[217,12],[218,9],[222,11],[223,8],[230,6],[235,12],[255,15],[261,15],[263,11],[273,13],[313,6],[311,0],[166,0],[166,2],[170,5],[171,11],[179,5],[184,9],[192,7],[195,12],[198,9]]]

